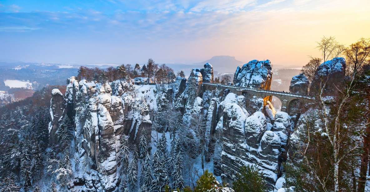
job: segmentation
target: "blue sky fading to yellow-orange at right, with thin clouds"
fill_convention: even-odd
[[[0,0],[0,61],[305,65],[317,41],[370,38],[369,0]]]

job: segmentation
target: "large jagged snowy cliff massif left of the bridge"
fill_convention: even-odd
[[[179,81],[181,83],[182,79]],[[178,85],[176,92],[181,89],[184,88]],[[72,153],[79,157],[78,162],[87,162],[91,167],[86,171],[83,165],[75,165],[72,190],[116,190],[119,178],[118,140],[124,137],[129,144],[138,145],[145,129],[150,142],[152,121],[149,112],[162,110],[161,107],[172,97],[168,97],[168,93],[172,95],[172,88],[133,85],[124,80],[111,83],[78,82],[74,77],[70,78],[64,96],[58,89],[52,91],[50,142],[55,143],[55,132],[62,117],[70,117],[75,124],[75,151]],[[200,107],[200,104],[201,100],[200,103],[195,102],[194,106]]]

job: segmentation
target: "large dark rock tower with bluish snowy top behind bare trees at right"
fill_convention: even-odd
[[[336,95],[336,87],[341,86],[346,69],[346,60],[343,57],[336,57],[322,63],[318,68],[310,88],[310,95],[319,94],[326,82],[323,95]]]

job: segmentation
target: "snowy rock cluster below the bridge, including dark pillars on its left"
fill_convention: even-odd
[[[213,155],[214,174],[221,175],[225,184],[232,185],[241,166],[256,166],[273,190],[280,159],[286,159],[290,116],[285,112],[271,113],[271,117],[262,113],[263,99],[255,98],[254,102],[261,106],[256,104],[254,109],[250,109],[244,96],[234,93],[220,95],[223,93],[203,93],[203,106],[207,107],[205,133],[210,138],[208,155]],[[247,110],[254,112],[250,115]]]

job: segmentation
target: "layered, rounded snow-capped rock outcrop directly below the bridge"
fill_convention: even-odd
[[[240,104],[244,103],[240,102],[242,100],[243,98],[234,93],[229,93],[219,104],[218,116],[222,116],[215,130],[222,131],[223,150],[222,171],[217,169],[216,172],[222,172],[223,182],[231,185],[241,166],[256,166],[268,181],[269,188],[273,190],[280,163],[286,159],[285,146],[291,126],[290,116],[285,112],[276,112],[272,117],[266,118],[261,111],[249,116],[244,107],[240,107]],[[211,105],[214,105],[213,103]],[[270,119],[273,119],[273,122]]]

